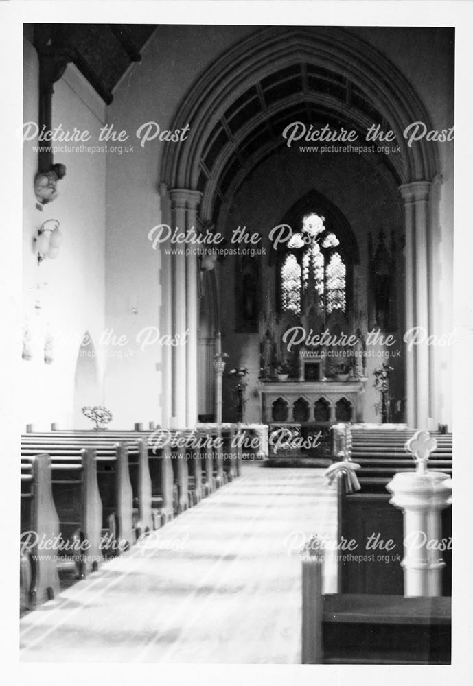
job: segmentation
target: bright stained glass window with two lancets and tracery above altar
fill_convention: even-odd
[[[301,315],[301,298],[313,288],[319,294],[320,313],[334,310],[345,312],[347,268],[340,252],[334,251],[340,241],[332,232],[321,241],[316,236],[323,232],[323,217],[314,213],[304,217],[303,233],[295,234],[289,244],[281,267],[282,309]],[[303,234],[312,237],[312,243],[303,241]],[[296,240],[297,239],[297,240]],[[299,252],[300,250],[300,252]],[[299,259],[297,259],[299,253]]]

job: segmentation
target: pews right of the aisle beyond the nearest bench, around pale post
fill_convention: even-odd
[[[349,459],[360,465],[356,471],[360,490],[348,492],[341,484],[338,497],[339,540],[367,541],[379,534],[380,541],[395,542],[395,552],[403,556],[404,522],[402,511],[389,501],[392,494],[387,484],[395,473],[414,471],[415,462],[405,449],[415,429],[406,425],[335,425],[332,427],[332,459]],[[431,431],[437,448],[430,454],[428,469],[452,476],[452,434]],[[452,508],[441,513],[442,537],[452,535]],[[380,552],[380,551],[378,551]],[[443,595],[451,595],[452,552],[443,553]],[[343,561],[338,566],[338,588],[341,593],[403,595],[404,573],[397,562],[368,560],[367,563]]]

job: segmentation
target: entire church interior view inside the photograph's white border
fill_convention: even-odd
[[[454,29],[23,49],[21,660],[450,663]]]

